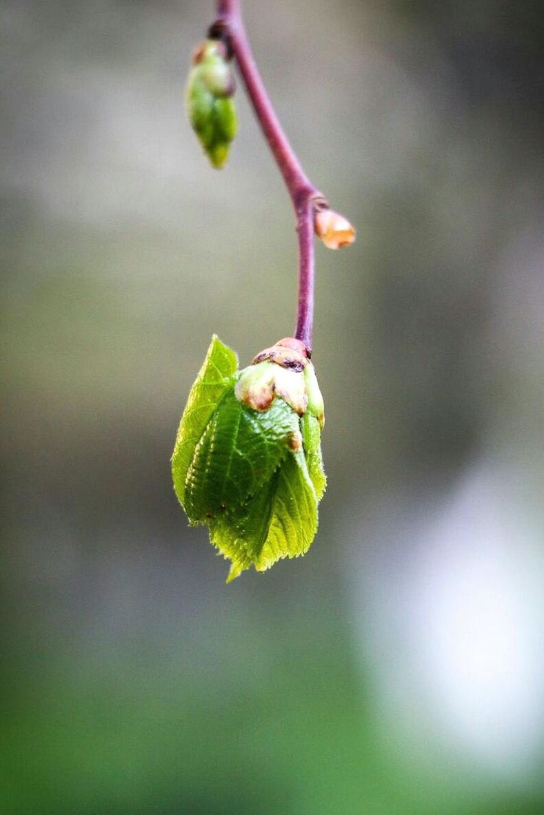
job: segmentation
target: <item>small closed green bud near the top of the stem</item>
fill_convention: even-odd
[[[206,156],[220,168],[237,133],[234,77],[223,42],[203,42],[193,55],[193,63],[187,82],[189,121]]]

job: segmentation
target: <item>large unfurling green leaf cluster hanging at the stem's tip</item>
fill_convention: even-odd
[[[237,371],[213,337],[192,385],[172,456],[192,524],[232,561],[228,580],[307,552],[325,492],[323,399],[303,343],[287,338]]]

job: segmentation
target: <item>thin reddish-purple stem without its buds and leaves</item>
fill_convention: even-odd
[[[304,173],[272,108],[245,33],[239,0],[219,0],[217,19],[210,34],[223,37],[232,48],[250,102],[293,202],[299,235],[299,300],[294,336],[311,350],[315,276],[313,215],[316,204],[322,204],[323,196]]]

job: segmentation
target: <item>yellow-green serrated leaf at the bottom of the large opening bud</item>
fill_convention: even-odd
[[[265,571],[282,557],[299,557],[316,531],[316,491],[303,452],[290,452],[244,509],[210,522],[211,542],[232,559],[228,581],[251,563]]]

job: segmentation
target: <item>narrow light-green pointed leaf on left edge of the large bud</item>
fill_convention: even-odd
[[[172,476],[176,495],[182,504],[187,472],[195,447],[206,430],[219,399],[232,388],[236,371],[237,355],[214,334],[204,364],[189,393],[175,440]]]

